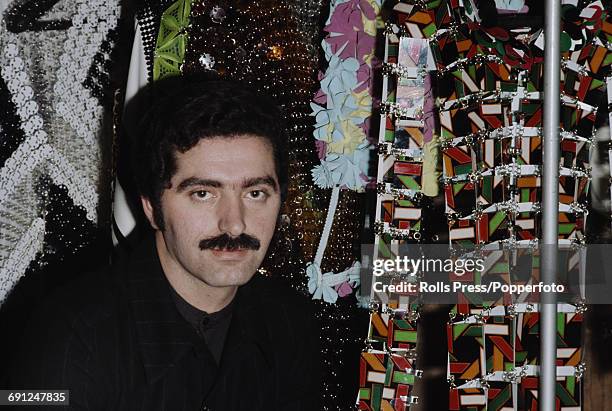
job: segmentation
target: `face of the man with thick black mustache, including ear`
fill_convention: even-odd
[[[175,158],[171,187],[161,196],[165,228],[157,233],[170,265],[164,268],[213,287],[246,283],[263,261],[280,209],[271,144],[248,135],[206,138]],[[151,203],[143,205],[157,228]]]

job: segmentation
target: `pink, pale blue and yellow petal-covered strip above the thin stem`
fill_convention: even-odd
[[[328,67],[311,103],[321,164],[312,170],[317,186],[362,191],[367,176],[368,119],[372,114],[372,59],[380,0],[336,0],[321,42]]]

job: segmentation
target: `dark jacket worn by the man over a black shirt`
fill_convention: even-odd
[[[69,389],[72,410],[321,409],[305,297],[270,278],[240,287],[217,366],[170,291],[152,241],[85,276],[27,325],[11,387]]]

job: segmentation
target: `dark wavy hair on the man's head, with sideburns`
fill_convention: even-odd
[[[155,223],[162,230],[161,195],[176,172],[175,154],[187,152],[201,139],[255,135],[268,140],[285,197],[283,112],[274,100],[247,85],[201,75],[167,77],[141,89],[128,103],[124,118],[138,194],[151,201]]]

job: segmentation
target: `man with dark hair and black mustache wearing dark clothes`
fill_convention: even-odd
[[[255,275],[287,182],[279,109],[183,77],[135,101],[148,107],[131,134],[154,234],[43,305],[11,387],[69,389],[79,410],[320,409],[309,302]]]

